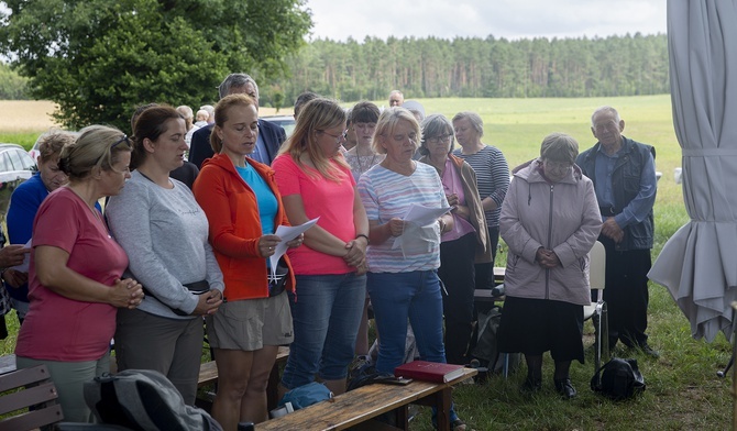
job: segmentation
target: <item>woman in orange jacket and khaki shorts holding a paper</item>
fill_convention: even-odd
[[[218,394],[212,416],[224,430],[239,421],[267,419],[266,386],[279,345],[293,340],[287,294],[295,281],[284,255],[270,276],[268,257],[289,222],[274,172],[248,158],[258,142],[258,113],[253,99],[230,95],[216,107],[210,143],[216,155],[205,161],[194,186],[195,198],[210,223],[210,243],[226,283],[227,302],[207,318],[218,365]],[[302,236],[287,243],[295,247]]]

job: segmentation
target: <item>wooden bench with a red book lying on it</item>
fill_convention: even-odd
[[[449,383],[437,384],[415,380],[406,386],[373,384],[360,387],[297,410],[282,418],[272,419],[256,426],[258,431],[267,430],[408,430],[407,408],[410,404],[438,408],[438,429],[450,429],[451,391],[457,385],[473,377],[474,368],[463,368],[464,374]],[[397,427],[373,420],[382,413],[394,411]]]

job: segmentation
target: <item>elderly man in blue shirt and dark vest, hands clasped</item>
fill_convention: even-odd
[[[622,341],[658,357],[645,333],[654,237],[654,148],[623,136],[625,121],[612,107],[594,111],[591,124],[598,142],[581,153],[576,164],[594,181],[604,222],[598,241],[606,248],[609,347]]]

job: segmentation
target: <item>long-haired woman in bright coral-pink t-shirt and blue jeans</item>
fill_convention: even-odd
[[[295,341],[282,385],[293,389],[315,374],[333,394],[345,391],[363,301],[369,220],[351,169],[340,153],[345,112],[318,98],[299,112],[294,134],[272,167],[293,225],[319,218],[304,246],[289,250],[297,281]],[[282,389],[284,389],[282,388]]]

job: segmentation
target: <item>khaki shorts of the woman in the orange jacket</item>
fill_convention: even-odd
[[[286,291],[273,298],[226,302],[205,320],[207,338],[213,349],[252,352],[294,340]]]

